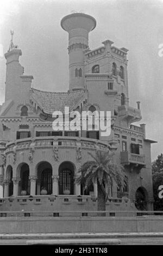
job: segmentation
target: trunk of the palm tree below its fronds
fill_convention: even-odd
[[[99,181],[97,180],[97,210],[98,211],[105,211],[105,194],[102,190],[101,185],[99,184]],[[106,216],[105,213],[99,213],[98,216]]]

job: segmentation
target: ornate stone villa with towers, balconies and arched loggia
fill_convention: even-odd
[[[65,190],[70,192],[71,200],[79,195],[83,200],[95,198],[96,184],[84,191],[76,183],[78,169],[91,160],[89,152],[110,149],[115,151],[114,161],[126,169],[128,182],[124,191],[113,184],[108,202],[121,205],[125,193],[131,203],[142,198],[143,207],[152,209],[151,143],[154,141],[146,138],[145,124],[133,125],[142,116],[139,101],[136,108],[129,105],[128,50],[115,47],[110,40],[91,50],[89,32],[96,27],[96,20],[89,15],[67,15],[61,20],[61,27],[68,32],[68,92],[32,88],[33,76],[24,75],[19,63],[22,51],[11,42],[5,53],[5,102],[0,111],[0,192],[4,199],[14,195],[18,200],[29,195],[41,198],[41,194],[42,198],[48,198],[43,196],[46,193],[62,199]],[[54,131],[52,113],[64,112],[65,106],[79,112],[111,111],[111,135],[102,137],[96,130]]]

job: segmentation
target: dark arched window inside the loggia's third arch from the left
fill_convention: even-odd
[[[52,194],[52,169],[44,169],[42,171],[40,188],[45,188],[47,194]]]

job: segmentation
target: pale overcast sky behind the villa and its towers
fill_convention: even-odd
[[[22,50],[25,75],[33,75],[33,87],[55,92],[68,89],[68,33],[60,27],[72,11],[95,17],[89,34],[91,49],[106,39],[128,52],[130,106],[141,101],[146,137],[152,144],[152,160],[163,152],[163,1],[159,0],[0,0],[0,105],[4,102],[5,59],[14,30],[14,44]],[[3,46],[3,54],[2,47]],[[136,123],[135,123],[136,124]]]

